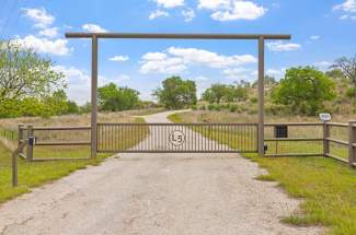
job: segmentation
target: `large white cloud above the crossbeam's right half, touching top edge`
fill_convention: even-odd
[[[211,10],[210,16],[216,21],[256,20],[267,12],[266,8],[243,0],[199,0],[198,8]]]

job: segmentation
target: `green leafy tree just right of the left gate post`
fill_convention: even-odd
[[[118,87],[110,83],[97,89],[100,110],[120,111],[139,105],[139,93],[133,89]]]

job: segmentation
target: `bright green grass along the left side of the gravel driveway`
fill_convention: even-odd
[[[142,119],[136,119],[141,122]],[[148,131],[141,131],[135,141],[127,142],[125,148],[130,148],[138,143],[148,134]],[[127,138],[130,133],[127,133]],[[35,148],[35,157],[88,157],[90,149],[88,146],[38,146]],[[88,165],[97,165],[110,154],[97,154],[94,160],[78,161],[46,161],[46,162],[27,162],[19,157],[19,187],[13,188],[11,185],[11,152],[0,143],[0,203],[24,192],[28,192],[31,188],[38,187],[45,183],[54,181],[70,173],[85,168]]]

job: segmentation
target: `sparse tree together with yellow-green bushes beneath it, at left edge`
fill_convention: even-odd
[[[13,42],[0,42],[0,118],[68,113],[64,74],[48,58]]]

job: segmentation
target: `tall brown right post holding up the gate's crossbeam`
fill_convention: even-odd
[[[259,38],[259,155],[264,156],[264,37]]]

